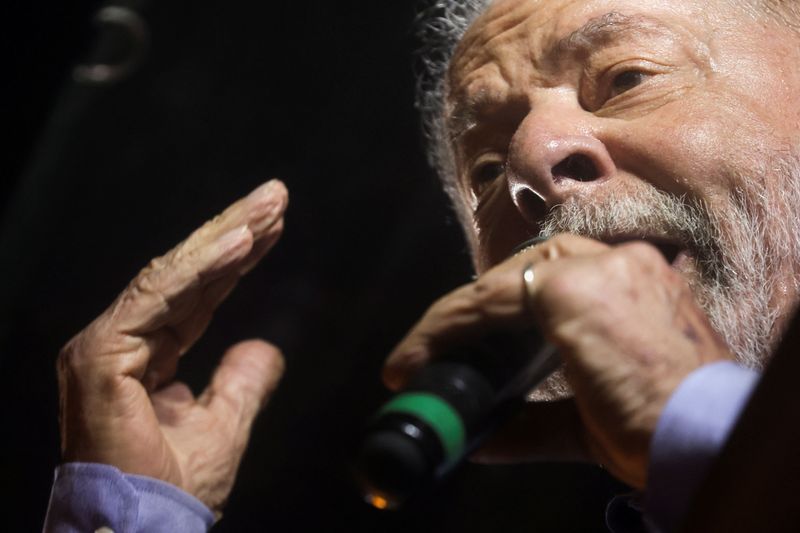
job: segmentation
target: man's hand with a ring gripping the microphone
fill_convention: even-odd
[[[533,279],[522,281],[528,265]],[[519,338],[532,327],[561,355],[574,403],[527,404],[479,452],[481,459],[583,454],[639,488],[646,483],[650,437],[674,388],[701,364],[730,357],[688,285],[656,248],[559,235],[436,302],[392,352],[384,379],[394,390],[419,387],[414,376],[455,348],[484,346],[495,335]],[[494,352],[487,358],[496,367],[522,368],[509,355],[513,350],[477,352]],[[390,402],[387,412],[408,414],[407,406],[394,407]],[[530,420],[536,424],[520,426]],[[450,468],[444,464],[433,479]]]

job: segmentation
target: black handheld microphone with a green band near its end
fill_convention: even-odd
[[[544,240],[526,241],[514,254]],[[436,358],[369,422],[356,460],[364,499],[396,509],[435,486],[560,363],[535,328],[496,331]]]

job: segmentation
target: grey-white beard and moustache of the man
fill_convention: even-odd
[[[551,210],[540,235],[573,233],[598,240],[639,235],[680,242],[695,258],[696,271],[686,281],[711,325],[740,363],[761,368],[782,333],[779,319],[785,310],[773,299],[782,288],[798,292],[800,164],[782,160],[776,166],[760,179],[738,180],[746,185],[713,209],[645,182],[602,202],[571,198]],[[776,171],[783,179],[776,179]],[[777,184],[771,188],[779,190],[770,190],[769,178]],[[787,272],[794,275],[790,286],[780,286]],[[531,399],[568,394],[557,373]]]

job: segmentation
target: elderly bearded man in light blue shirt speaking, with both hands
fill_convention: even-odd
[[[644,492],[647,527],[671,529],[797,300],[795,8],[442,0],[432,13],[420,103],[479,276],[431,307],[386,382],[536,324],[563,372],[481,457],[590,458]],[[281,358],[239,344],[198,398],[173,376],[285,206],[279,183],[257,189],[65,347],[68,463],[46,529],[213,522]],[[508,258],[535,235],[551,238]]]

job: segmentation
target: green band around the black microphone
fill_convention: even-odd
[[[460,456],[466,430],[458,412],[438,396],[424,392],[405,392],[383,406],[379,414],[404,413],[416,416],[436,432],[447,460]]]

